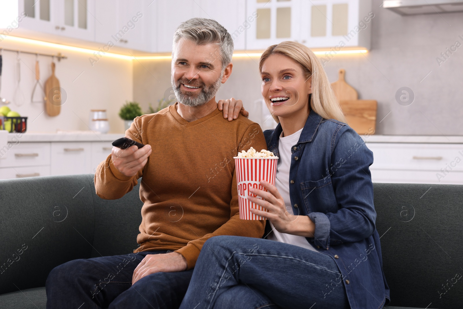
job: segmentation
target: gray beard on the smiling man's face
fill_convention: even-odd
[[[174,76],[172,75],[170,76],[170,82],[172,83],[172,88],[174,89],[174,94],[175,94],[175,98],[177,99],[177,101],[183,105],[195,107],[195,106],[201,106],[203,104],[206,104],[215,96],[217,91],[219,91],[223,75],[224,75],[224,72],[222,71],[222,74],[220,74],[220,77],[215,82],[213,82],[213,84],[210,85],[209,87],[206,87],[204,83],[200,85],[202,88],[199,94],[183,93],[180,90],[180,87],[182,84],[181,80],[175,83]]]

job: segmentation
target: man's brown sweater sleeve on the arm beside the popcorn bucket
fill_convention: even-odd
[[[238,152],[241,150],[247,151],[253,147],[257,151],[267,149],[267,144],[263,136],[261,127],[258,124],[252,124],[244,133],[239,145]],[[236,156],[235,154],[234,156]],[[233,159],[232,159],[233,160]],[[187,260],[188,268],[194,268],[196,260],[200,254],[201,248],[209,238],[219,235],[232,235],[261,238],[265,229],[265,220],[241,220],[239,219],[238,211],[238,185],[236,180],[236,169],[233,170],[232,182],[232,200],[230,202],[230,220],[225,222],[221,227],[216,229],[213,233],[208,233],[203,237],[191,240],[188,244],[176,252],[183,255]]]

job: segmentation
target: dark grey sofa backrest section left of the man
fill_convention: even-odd
[[[69,260],[128,254],[137,247],[138,185],[106,201],[95,194],[93,179],[0,180],[0,294],[45,286],[49,272]]]

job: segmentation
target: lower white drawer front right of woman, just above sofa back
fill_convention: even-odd
[[[436,183],[463,184],[463,172],[452,170],[444,175],[436,170],[376,170],[370,169],[374,183]],[[438,177],[439,174],[440,176]]]

